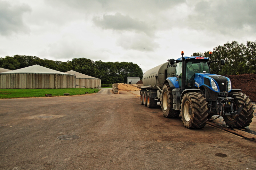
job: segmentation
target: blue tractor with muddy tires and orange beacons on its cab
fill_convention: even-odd
[[[203,128],[213,115],[222,116],[228,127],[249,126],[253,117],[252,101],[242,90],[232,89],[229,78],[211,74],[211,63],[225,65],[225,61],[183,57],[183,52],[181,55],[177,60],[168,60],[169,66],[176,64],[175,76],[166,78],[161,89],[157,87],[160,94],[157,93],[155,100],[160,100],[164,117],[175,118],[181,114],[184,126],[192,129]],[[147,92],[146,88],[142,90]]]

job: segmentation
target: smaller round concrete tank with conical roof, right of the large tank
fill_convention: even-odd
[[[92,76],[87,76],[85,74],[70,70],[65,73],[76,75],[76,88],[98,88],[98,85],[101,87],[101,79],[95,78]],[[84,87],[83,87],[84,86]]]

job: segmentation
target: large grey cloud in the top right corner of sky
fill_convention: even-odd
[[[193,2],[192,2],[193,3]],[[256,1],[200,1],[186,23],[194,29],[237,34],[256,28]]]

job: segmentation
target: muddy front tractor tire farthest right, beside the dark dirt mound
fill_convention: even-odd
[[[231,128],[249,126],[253,118],[252,100],[249,99],[249,96],[241,92],[233,92],[230,94],[230,97],[234,98],[234,110],[241,107],[243,103],[246,103],[246,107],[244,107],[239,116],[224,116],[224,122]]]

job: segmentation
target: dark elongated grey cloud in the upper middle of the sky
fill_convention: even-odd
[[[152,35],[154,31],[154,28],[145,22],[133,19],[128,15],[124,16],[119,12],[115,15],[103,15],[102,20],[93,18],[93,22],[103,29],[144,32],[148,35]]]

